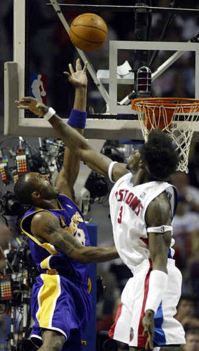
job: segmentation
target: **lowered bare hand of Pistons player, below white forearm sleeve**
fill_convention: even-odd
[[[145,350],[153,350],[153,337],[154,337],[154,312],[147,310],[142,319],[144,327],[143,336],[147,336]]]

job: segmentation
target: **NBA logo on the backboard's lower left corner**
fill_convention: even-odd
[[[30,96],[46,104],[46,75],[31,74]]]

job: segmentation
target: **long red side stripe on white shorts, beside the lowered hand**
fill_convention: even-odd
[[[145,277],[145,282],[144,282],[144,299],[143,299],[143,303],[142,303],[142,310],[141,310],[141,315],[140,315],[140,320],[139,320],[139,327],[138,327],[138,340],[137,340],[137,346],[141,347],[141,348],[145,348],[145,344],[147,341],[147,336],[143,336],[143,331],[144,331],[144,327],[142,325],[142,318],[144,317],[144,309],[145,309],[145,305],[146,305],[146,299],[147,299],[147,295],[148,295],[148,290],[149,290],[149,277],[150,277],[150,273],[152,270],[152,262],[151,259],[149,259],[149,263],[150,263],[150,267],[149,270],[146,274]]]

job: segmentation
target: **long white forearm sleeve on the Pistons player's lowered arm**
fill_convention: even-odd
[[[152,310],[156,314],[167,288],[168,275],[159,270],[151,271],[149,277],[149,290],[144,311]]]

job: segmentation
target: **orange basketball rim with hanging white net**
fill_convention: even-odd
[[[145,141],[151,129],[170,134],[180,154],[178,171],[188,173],[191,140],[199,121],[199,100],[187,98],[147,98],[131,102],[137,111]]]

